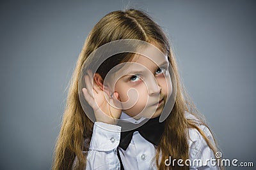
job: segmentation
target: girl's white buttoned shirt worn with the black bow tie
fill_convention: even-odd
[[[186,114],[186,117],[192,115]],[[124,112],[121,118],[129,117]],[[131,117],[130,117],[131,118]],[[143,118],[142,118],[143,119]],[[140,120],[129,119],[129,122],[138,123]],[[212,134],[207,127],[201,125],[207,138],[214,143]],[[117,156],[117,147],[120,141],[121,127],[118,125],[95,122],[93,134],[86,160],[86,170],[90,169],[120,169],[120,162]],[[218,169],[212,166],[207,159],[215,159],[214,153],[205,142],[202,135],[196,129],[189,129],[189,169]],[[127,150],[118,147],[124,169],[157,169],[156,162],[152,159],[156,155],[156,146],[144,139],[140,133],[134,132],[131,143]],[[171,158],[172,159],[172,158]],[[193,164],[193,160],[200,159],[202,162]],[[185,161],[185,160],[184,160]],[[185,164],[184,161],[182,164]],[[169,162],[167,161],[166,164]],[[175,162],[175,164],[177,161]],[[189,164],[189,162],[187,162]]]

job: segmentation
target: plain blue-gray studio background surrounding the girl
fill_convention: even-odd
[[[148,11],[168,32],[223,157],[256,164],[254,1],[1,1],[0,169],[51,168],[84,39],[125,6]]]

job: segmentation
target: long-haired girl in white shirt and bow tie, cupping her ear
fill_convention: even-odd
[[[215,153],[161,27],[141,10],[104,16],[77,60],[53,169],[219,169]]]

